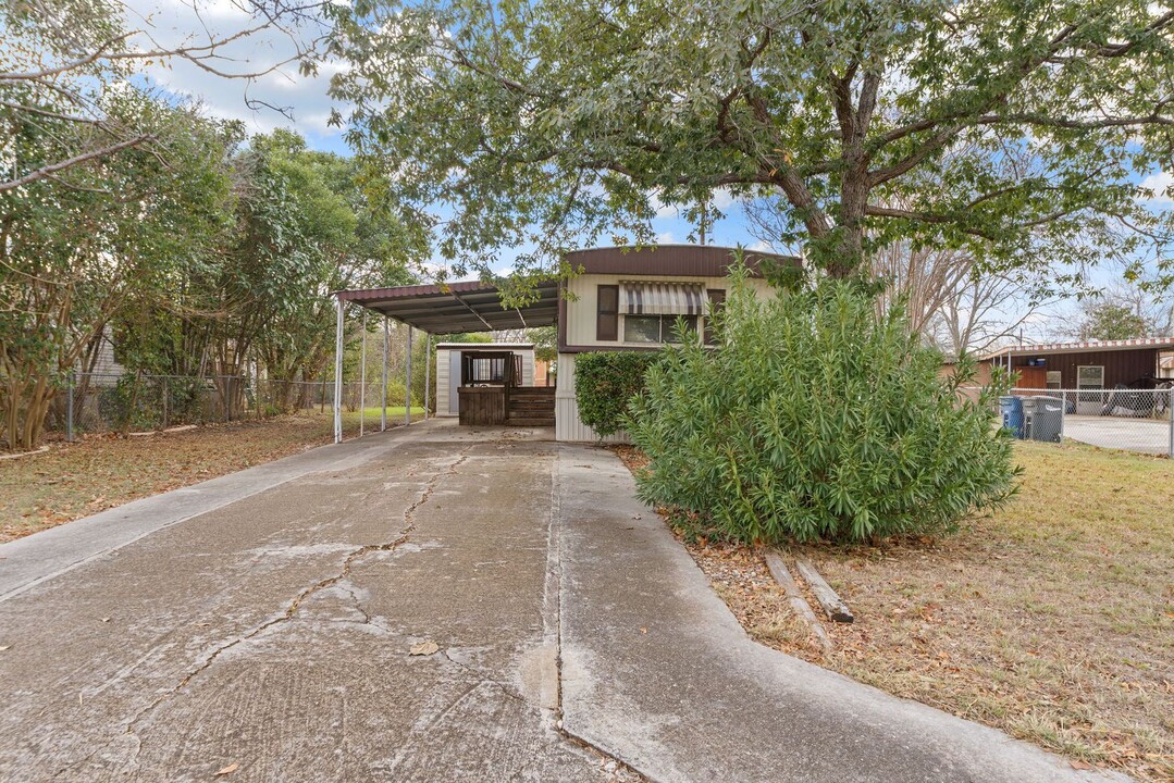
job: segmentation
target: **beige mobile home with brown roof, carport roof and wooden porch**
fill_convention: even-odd
[[[763,295],[770,291],[761,274],[767,259],[799,263],[790,256],[745,252],[750,284]],[[517,309],[502,308],[497,286],[481,282],[339,291],[337,297],[340,308],[346,302],[359,304],[424,331],[429,339],[431,335],[556,325],[555,386],[534,384],[533,346],[445,344],[447,353],[444,358],[438,353],[434,376],[438,409],[444,406],[445,414],[459,416],[463,424],[548,424],[553,418],[558,440],[594,441],[595,433],[579,420],[576,357],[589,351],[656,350],[673,339],[679,318],[697,339],[706,339],[708,318],[726,299],[734,250],[709,245],[599,248],[569,252],[564,261],[574,275],[566,281],[539,283],[532,301]],[[519,360],[525,367],[526,359],[515,357],[525,357],[527,350],[528,376],[525,369],[504,371],[500,382],[486,382],[479,380],[477,371],[465,370],[470,366],[464,364],[466,353],[468,360],[491,358],[487,353],[477,357],[477,351],[499,353],[492,358],[504,363],[501,367],[518,366]],[[454,351],[463,363],[459,382],[453,370]],[[439,387],[441,374],[446,376],[444,393]],[[612,440],[623,437],[614,436]]]

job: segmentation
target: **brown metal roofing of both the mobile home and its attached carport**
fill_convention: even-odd
[[[733,252],[731,248],[711,245],[596,248],[568,252],[565,261],[587,275],[724,277]],[[761,274],[760,264],[765,258],[799,263],[776,254],[747,251],[744,257],[751,275]],[[456,335],[553,325],[559,312],[558,281],[539,283],[537,293],[535,302],[517,310],[504,309],[497,286],[479,281],[356,289],[338,291],[337,296],[433,335]]]

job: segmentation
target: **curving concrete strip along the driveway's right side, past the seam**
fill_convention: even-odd
[[[754,642],[615,455],[559,471],[564,727],[649,778],[1129,779]]]

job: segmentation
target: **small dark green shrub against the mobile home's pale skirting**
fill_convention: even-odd
[[[660,356],[649,351],[580,353],[575,358],[579,420],[600,437],[619,431],[628,400],[643,391],[645,374]]]

